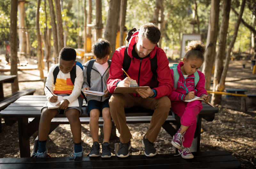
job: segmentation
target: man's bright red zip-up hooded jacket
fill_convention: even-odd
[[[168,96],[172,92],[173,83],[171,77],[171,70],[169,68],[169,61],[164,53],[164,50],[155,46],[150,52],[150,56],[144,59],[136,59],[132,57],[132,49],[135,42],[135,35],[138,35],[139,31],[135,32],[129,42],[128,55],[132,58],[131,65],[126,72],[131,79],[136,80],[139,86],[148,86],[153,76],[150,68],[150,59],[157,53],[157,80],[158,87],[156,90],[156,99]],[[124,80],[123,61],[124,61],[125,46],[116,49],[111,59],[111,66],[109,70],[109,78],[107,81],[107,88],[110,93],[113,93],[118,81]],[[140,63],[141,62],[141,63]],[[139,94],[132,94],[133,96],[139,96]]]

